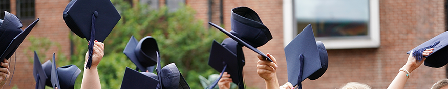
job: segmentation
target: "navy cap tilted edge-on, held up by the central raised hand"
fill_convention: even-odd
[[[268,56],[257,49],[257,47],[263,46],[272,39],[271,32],[263,24],[258,14],[248,7],[233,8],[231,13],[232,31],[230,32],[214,23],[208,22],[208,24],[272,62]]]

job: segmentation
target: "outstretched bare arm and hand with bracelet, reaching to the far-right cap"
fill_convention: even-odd
[[[426,49],[423,51],[423,56],[428,56],[430,53],[432,53],[434,48]],[[404,64],[402,67],[405,70],[408,70],[409,73],[417,69],[423,62],[426,60],[425,57],[421,61],[417,61],[413,56],[412,52],[409,54],[408,62]],[[391,84],[388,88],[404,88],[404,84],[406,84],[406,81],[408,80],[408,77],[406,76],[406,72],[400,71],[398,72],[397,76],[392,80]]]

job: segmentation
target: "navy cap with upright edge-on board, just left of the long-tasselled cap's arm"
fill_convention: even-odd
[[[79,73],[81,73],[81,69],[73,64],[56,68],[53,53],[53,63],[51,65],[51,85],[53,88],[74,88]]]

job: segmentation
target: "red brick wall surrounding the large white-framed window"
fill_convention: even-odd
[[[214,0],[214,7],[216,4]],[[197,10],[197,18],[208,20],[208,1],[188,1]],[[410,49],[445,31],[444,1],[380,1],[381,46],[372,49],[328,50],[329,68],[319,79],[303,82],[304,88],[339,88],[348,82],[366,83],[373,88],[386,88],[406,63]],[[278,60],[278,77],[287,82],[287,68],[283,50],[282,1],[227,0],[223,2],[224,28],[230,31],[230,10],[247,6],[255,10],[270,29],[273,39],[258,49],[271,53]],[[216,10],[215,8],[212,8]],[[218,9],[219,10],[219,9]],[[218,11],[217,11],[218,12]],[[215,13],[214,13],[215,14]],[[212,21],[217,20],[215,15]],[[218,20],[219,21],[219,20]],[[205,23],[206,24],[206,23]],[[207,24],[206,24],[207,25]],[[325,43],[324,43],[325,44]],[[256,73],[256,53],[244,48],[246,66],[244,78],[247,87],[265,88]],[[445,67],[421,66],[411,74],[406,88],[430,88],[445,78]]]

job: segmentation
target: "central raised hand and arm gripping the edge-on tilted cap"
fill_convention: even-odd
[[[277,60],[275,60],[274,56],[271,54],[266,54],[269,58],[271,58],[272,62],[264,60],[261,55],[258,55],[259,58],[257,62],[257,73],[258,75],[265,80],[266,88],[279,88],[279,82],[277,80]]]

